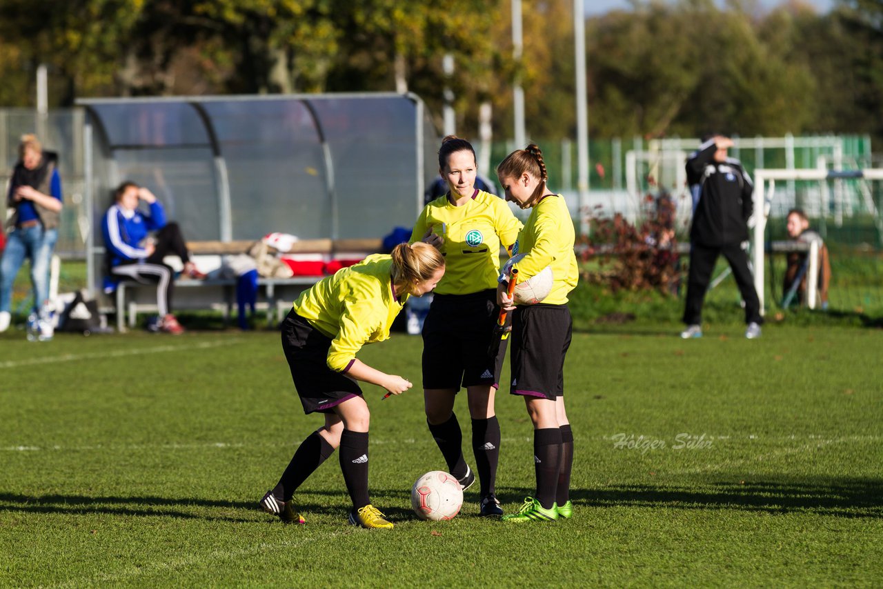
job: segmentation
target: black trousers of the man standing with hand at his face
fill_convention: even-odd
[[[762,323],[758,291],[754,290],[754,276],[748,268],[748,254],[739,244],[708,246],[692,243],[690,247],[690,273],[687,277],[687,305],[683,309],[683,322],[687,325],[701,325],[702,303],[706,298],[708,282],[717,262],[723,254],[742,298],[745,301],[745,323]],[[762,268],[761,268],[762,270]]]

